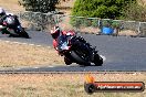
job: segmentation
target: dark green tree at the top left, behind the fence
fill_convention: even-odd
[[[59,0],[19,0],[27,11],[34,12],[50,12],[55,11],[55,4],[59,3]]]

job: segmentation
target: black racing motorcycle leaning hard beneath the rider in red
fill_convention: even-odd
[[[69,32],[67,34],[74,32]],[[75,34],[60,36],[58,39],[59,51],[64,56],[66,65],[76,63],[83,66],[94,64],[95,66],[102,66],[103,58],[97,54],[96,47],[92,47],[82,36]]]

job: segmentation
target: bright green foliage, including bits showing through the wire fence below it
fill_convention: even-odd
[[[85,18],[102,18],[102,19],[119,19],[123,18],[123,9],[127,3],[132,3],[135,0],[76,0],[72,9],[72,15],[85,17]],[[80,23],[79,23],[80,22]],[[71,19],[71,24],[74,26],[85,25],[85,26],[97,26],[98,22],[87,20],[79,21],[79,19]],[[77,24],[77,25],[76,25]],[[113,28],[118,26],[118,24],[109,24]]]

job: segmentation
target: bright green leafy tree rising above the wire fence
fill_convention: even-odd
[[[76,0],[72,15],[118,19],[123,8],[132,1],[135,0]]]

